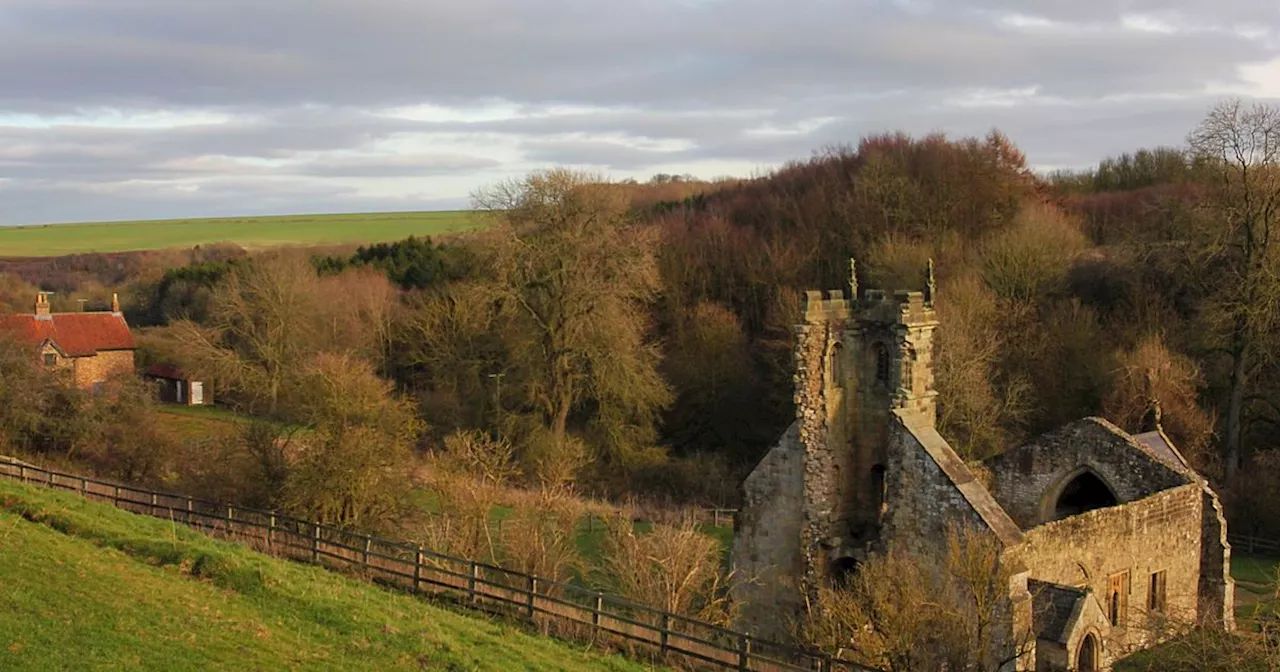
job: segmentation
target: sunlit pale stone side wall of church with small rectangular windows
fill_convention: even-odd
[[[1151,575],[1164,571],[1165,614],[1194,620],[1199,596],[1202,490],[1188,484],[1108,508],[1088,511],[1024,532],[1011,554],[1033,579],[1088,588],[1106,604],[1110,577],[1129,573],[1123,626],[1111,628],[1103,646],[1115,657],[1153,641],[1149,614]]]

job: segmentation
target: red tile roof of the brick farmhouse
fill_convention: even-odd
[[[32,346],[51,340],[68,357],[138,347],[124,316],[118,312],[0,315],[0,330],[6,330]]]

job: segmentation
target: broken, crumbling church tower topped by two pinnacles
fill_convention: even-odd
[[[850,298],[809,292],[796,328],[796,422],[804,449],[801,553],[810,586],[851,570],[879,538],[893,411],[933,424],[933,262],[919,289]]]

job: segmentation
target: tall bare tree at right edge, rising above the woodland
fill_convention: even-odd
[[[1265,344],[1280,324],[1280,108],[1219,104],[1188,141],[1213,177],[1199,276],[1210,285],[1207,326],[1231,365],[1222,448],[1234,484],[1251,376],[1270,360]]]

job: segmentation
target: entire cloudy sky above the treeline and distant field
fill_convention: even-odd
[[[1275,0],[0,0],[0,224],[463,207],[881,131],[1041,169],[1280,99]]]

